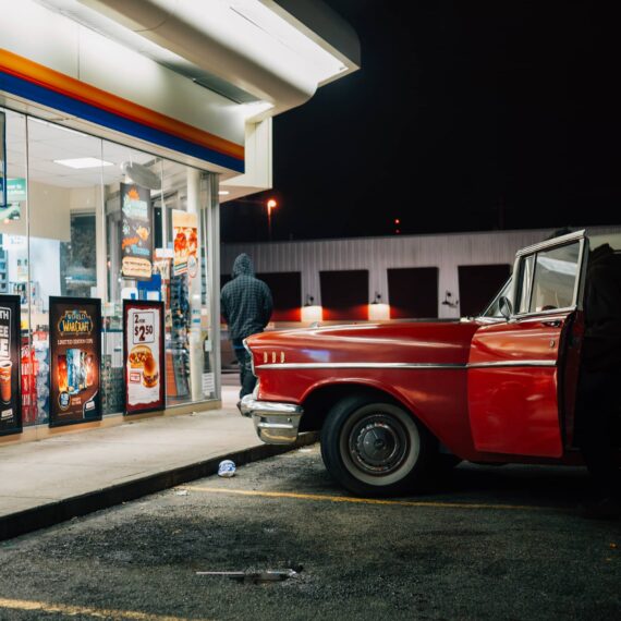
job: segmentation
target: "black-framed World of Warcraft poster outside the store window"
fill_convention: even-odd
[[[101,301],[50,297],[50,427],[101,419]]]

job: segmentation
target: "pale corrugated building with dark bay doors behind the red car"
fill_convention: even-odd
[[[592,227],[593,234],[621,232]],[[458,318],[482,312],[507,281],[518,249],[549,229],[223,244],[221,279],[238,254],[275,296],[273,326]],[[230,357],[230,356],[229,356]]]

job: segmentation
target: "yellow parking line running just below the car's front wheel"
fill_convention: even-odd
[[[397,507],[426,507],[431,509],[495,509],[502,511],[550,511],[555,507],[532,504],[492,504],[477,502],[437,502],[434,500],[382,500],[377,498],[354,498],[349,496],[327,496],[322,494],[294,494],[291,491],[256,491],[249,489],[224,489],[221,487],[179,486],[175,489],[204,491],[208,494],[232,494],[238,496],[258,496],[263,498],[290,498],[295,500],[320,500],[324,502],[352,502],[358,504],[394,504]]]

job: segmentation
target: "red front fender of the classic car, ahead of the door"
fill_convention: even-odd
[[[283,332],[248,339],[259,398],[304,404],[326,386],[369,386],[391,394],[460,455],[473,455],[467,418],[467,363],[475,321],[361,324]],[[285,363],[411,363],[455,368],[278,368]],[[276,368],[263,369],[276,362]]]

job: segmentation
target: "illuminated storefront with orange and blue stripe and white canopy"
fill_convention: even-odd
[[[219,23],[215,11],[210,23],[192,24],[195,48],[209,45],[208,62],[219,61],[211,73],[182,49],[191,26],[173,8],[157,44],[136,34],[149,7],[165,4],[0,0],[0,331],[19,331],[7,341],[13,353],[0,350],[10,397],[0,435],[120,417],[132,378],[143,392],[166,387],[148,410],[219,403],[219,188],[238,198],[269,187],[270,117],[356,69],[284,10],[248,0],[236,13],[235,2],[218,3],[229,11]],[[122,14],[138,5],[142,13]],[[257,47],[248,33],[218,42],[234,20],[248,27],[244,11],[267,20],[254,26]],[[282,53],[260,37],[281,23],[306,37],[287,41],[306,54],[304,66],[317,48],[318,59],[333,59],[333,75],[266,71]],[[157,364],[129,361],[124,301],[163,303]],[[82,417],[69,415],[72,404]]]

